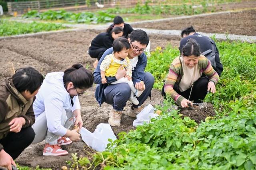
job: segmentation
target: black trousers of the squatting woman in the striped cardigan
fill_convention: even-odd
[[[190,95],[191,87],[187,89],[186,91],[180,91],[179,86],[177,83],[175,83],[173,89],[179,94],[188,99],[190,95],[190,101],[194,100],[194,103],[202,103],[204,100],[204,97],[207,94],[207,86],[208,86],[209,79],[208,77],[201,77],[197,81],[194,82],[194,85],[192,87],[192,92]],[[165,98],[166,94],[164,93],[164,87],[161,91],[162,96]]]

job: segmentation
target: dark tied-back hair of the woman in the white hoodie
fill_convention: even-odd
[[[92,87],[93,75],[91,71],[78,63],[64,71],[63,82],[65,84],[72,82],[76,88],[88,89],[89,87]]]

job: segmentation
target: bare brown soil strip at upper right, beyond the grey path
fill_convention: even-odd
[[[184,20],[134,24],[132,26],[137,28],[153,28],[157,30],[183,30],[192,25],[197,32],[255,36],[255,20],[256,10],[254,9],[242,12],[231,12],[228,14],[193,17]]]

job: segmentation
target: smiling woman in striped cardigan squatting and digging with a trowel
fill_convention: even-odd
[[[202,73],[207,77],[202,77]],[[215,93],[218,79],[218,73],[210,61],[200,55],[198,43],[190,39],[182,47],[182,55],[172,61],[164,93],[170,95],[179,106],[188,107],[193,100],[194,103],[202,103],[208,91]]]

